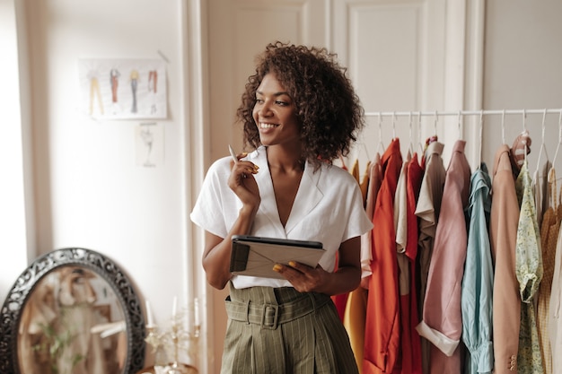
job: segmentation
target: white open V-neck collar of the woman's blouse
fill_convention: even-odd
[[[259,195],[261,196],[261,204],[259,204],[259,212],[268,217],[271,222],[271,229],[275,231],[276,237],[287,238],[291,230],[303,221],[303,218],[314,209],[324,196],[318,188],[318,180],[321,177],[322,169],[314,172],[314,166],[310,162],[305,162],[301,183],[294,196],[293,206],[285,228],[279,218],[277,209],[277,201],[275,191],[273,189],[273,180],[268,166],[268,156],[265,147],[258,150],[258,159],[252,160],[259,166],[259,172],[254,176],[259,186]]]

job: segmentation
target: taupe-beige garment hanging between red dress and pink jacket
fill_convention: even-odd
[[[443,197],[443,186],[445,184],[445,168],[443,166],[443,144],[437,141],[427,146],[426,153],[422,158],[421,167],[425,168],[419,188],[419,197],[416,205],[416,215],[419,218],[419,238],[416,259],[416,296],[417,296],[417,318],[421,319],[426,297],[427,274],[429,263],[434,248],[435,228],[441,210],[441,199]],[[422,371],[429,374],[429,347],[430,343],[421,337]]]

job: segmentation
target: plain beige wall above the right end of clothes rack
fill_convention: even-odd
[[[562,2],[494,0],[486,4],[483,108],[562,108],[562,49],[559,48]],[[546,117],[545,147],[540,154],[542,114],[527,115],[525,126],[532,138],[531,172],[537,169],[539,161],[540,164],[546,161],[547,155],[550,160],[554,158],[558,118],[558,114]],[[515,136],[522,132],[522,115],[505,116],[504,128],[505,143],[512,144]],[[487,118],[482,157],[488,165],[502,142],[501,115]],[[560,159],[557,158],[555,165],[558,170],[562,168]]]

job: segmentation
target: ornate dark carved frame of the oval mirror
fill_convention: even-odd
[[[66,265],[83,266],[110,284],[125,315],[127,359],[123,372],[134,373],[141,370],[145,363],[145,318],[127,274],[110,258],[91,249],[62,248],[36,259],[17,278],[4,300],[0,310],[0,373],[21,373],[18,362],[18,328],[23,308],[40,280]]]

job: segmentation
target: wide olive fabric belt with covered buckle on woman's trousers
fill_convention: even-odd
[[[226,314],[234,321],[259,325],[262,328],[275,330],[277,326],[296,318],[306,316],[320,309],[329,302],[328,295],[306,293],[303,298],[283,304],[246,303],[226,299]]]

